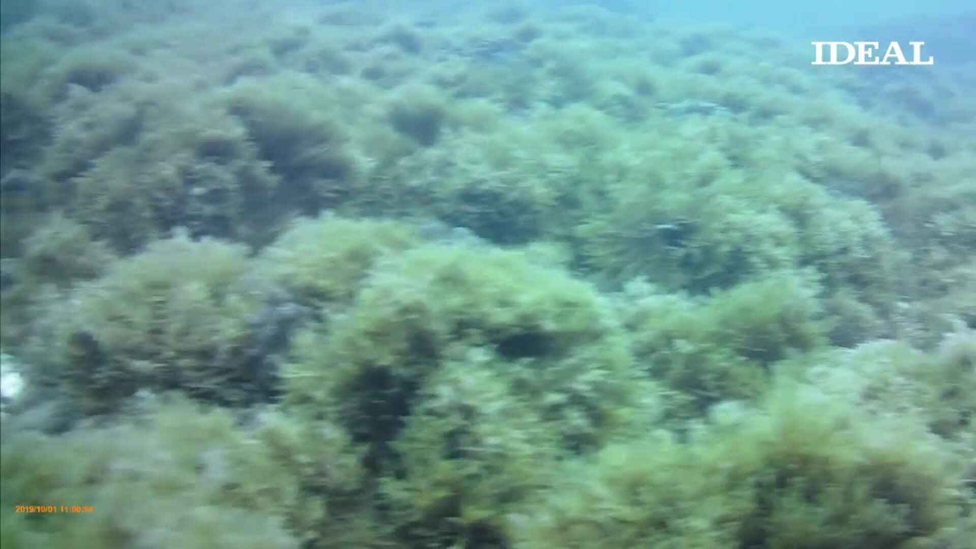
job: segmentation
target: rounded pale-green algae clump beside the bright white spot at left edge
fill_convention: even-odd
[[[183,391],[245,404],[273,395],[276,373],[256,336],[264,288],[247,249],[186,236],[158,240],[79,284],[38,321],[30,361],[87,413],[139,391]]]

